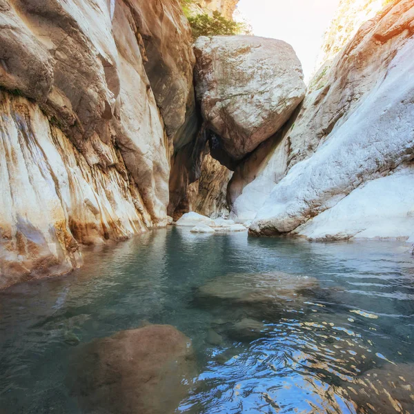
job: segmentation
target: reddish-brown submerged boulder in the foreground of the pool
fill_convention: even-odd
[[[195,377],[191,341],[169,325],[97,339],[78,358],[74,391],[88,413],[175,413]]]

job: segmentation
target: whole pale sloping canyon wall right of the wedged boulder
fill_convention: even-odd
[[[255,235],[336,239],[414,233],[411,187],[404,197],[398,190],[411,175],[414,156],[413,20],[412,1],[400,0],[364,23],[324,83],[308,93],[258,177],[244,186],[233,219],[255,217],[250,227]],[[280,173],[273,175],[275,165]],[[381,201],[384,177],[392,181],[393,204],[404,200],[391,215],[391,201]],[[242,202],[251,197],[260,198],[254,208]],[[249,213],[253,210],[258,213]],[[355,219],[367,211],[371,217]]]

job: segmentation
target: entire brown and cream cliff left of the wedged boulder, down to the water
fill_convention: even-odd
[[[179,0],[0,0],[0,286],[166,224],[194,111]]]

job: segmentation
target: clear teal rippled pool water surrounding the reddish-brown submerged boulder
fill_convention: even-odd
[[[200,289],[275,272],[311,286],[248,301]],[[180,413],[414,412],[406,246],[168,228],[0,293],[0,413],[82,413],[68,386],[74,351],[148,322],[193,340],[199,375]]]

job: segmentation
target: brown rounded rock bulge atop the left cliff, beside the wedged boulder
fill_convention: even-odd
[[[138,17],[137,29],[145,46],[144,67],[171,137],[184,124],[188,101],[194,104],[195,56],[190,27],[180,1],[127,3]]]

